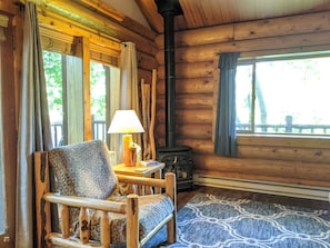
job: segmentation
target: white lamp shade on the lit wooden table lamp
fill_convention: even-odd
[[[134,110],[117,110],[112,118],[108,133],[137,133],[144,129]]]

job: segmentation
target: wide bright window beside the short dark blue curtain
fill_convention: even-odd
[[[330,52],[239,61],[237,130],[330,135]]]

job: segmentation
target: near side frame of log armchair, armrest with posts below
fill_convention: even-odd
[[[61,205],[60,218],[62,220],[61,234],[48,232],[46,239],[56,246],[66,247],[92,247],[89,240],[89,218],[87,215],[87,208],[96,209],[102,212],[100,219],[100,246],[110,247],[110,230],[109,230],[109,216],[108,212],[126,214],[127,224],[132,227],[133,230],[139,230],[139,201],[137,195],[129,195],[127,201],[116,202],[109,200],[93,199],[88,197],[76,196],[60,196],[52,192],[46,192],[43,200],[49,204]],[[80,241],[70,239],[70,224],[69,224],[69,207],[78,207],[79,214],[79,236]],[[137,231],[136,231],[137,232]],[[137,236],[138,237],[138,236]],[[87,245],[87,246],[84,246]]]

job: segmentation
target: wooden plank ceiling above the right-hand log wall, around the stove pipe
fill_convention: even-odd
[[[157,11],[154,0],[136,0],[136,2],[153,31],[162,33],[163,20]],[[179,2],[183,16],[176,17],[177,31],[330,10],[330,0],[179,0]]]

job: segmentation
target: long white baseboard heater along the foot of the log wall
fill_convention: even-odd
[[[194,173],[194,185],[329,201],[330,188],[220,178]]]

